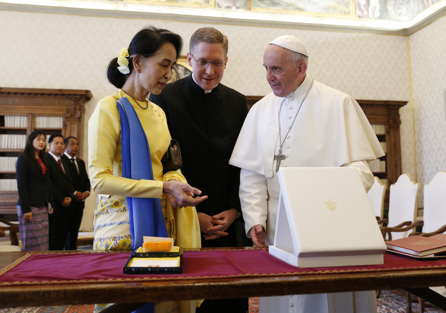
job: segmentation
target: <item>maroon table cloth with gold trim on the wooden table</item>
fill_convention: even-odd
[[[182,274],[124,274],[129,256],[129,252],[28,253],[0,271],[0,286],[446,268],[444,259],[417,260],[388,252],[380,265],[298,268],[266,249],[248,249],[184,252]]]

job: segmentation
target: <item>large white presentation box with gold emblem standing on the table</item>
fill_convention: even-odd
[[[269,253],[299,267],[383,264],[386,250],[358,170],[281,167]]]

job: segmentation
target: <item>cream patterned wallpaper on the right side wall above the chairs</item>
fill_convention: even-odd
[[[446,16],[409,39],[417,175],[424,186],[438,171],[446,171]]]

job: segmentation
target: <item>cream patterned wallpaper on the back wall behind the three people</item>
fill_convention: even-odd
[[[114,91],[105,76],[108,61],[146,24],[179,33],[186,39],[183,54],[197,28],[218,28],[229,40],[222,83],[246,95],[271,92],[262,66],[264,49],[278,36],[296,34],[308,47],[314,79],[357,99],[410,100],[406,37],[8,11],[0,11],[0,86],[89,89],[87,121],[99,99]],[[401,109],[401,119],[403,172],[413,175],[409,105]]]

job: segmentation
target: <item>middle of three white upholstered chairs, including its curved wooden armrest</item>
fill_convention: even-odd
[[[386,233],[388,240],[407,237],[411,229],[423,225],[423,221],[415,221],[419,191],[420,183],[414,183],[408,174],[390,185],[388,227],[381,228],[384,239]]]

